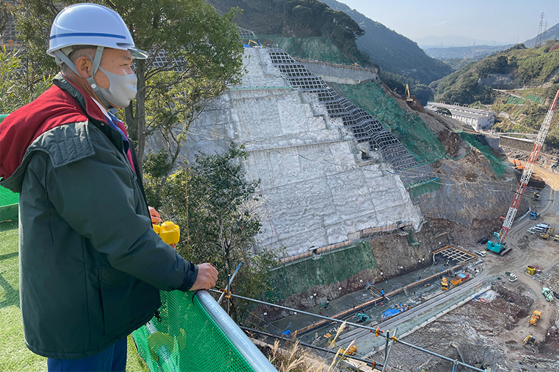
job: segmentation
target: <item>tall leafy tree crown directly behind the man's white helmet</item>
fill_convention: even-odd
[[[62,6],[78,2],[21,0],[17,27],[27,58],[41,66],[41,73],[56,70],[53,59],[45,56],[52,21]],[[154,132],[168,141],[174,164],[192,120],[208,101],[240,81],[242,45],[231,22],[239,9],[219,15],[204,0],[95,2],[119,13],[136,46],[150,52],[150,58],[135,62],[138,94],[124,110],[138,165],[142,169],[146,138]]]

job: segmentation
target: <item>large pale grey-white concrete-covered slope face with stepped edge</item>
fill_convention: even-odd
[[[370,227],[412,222],[421,213],[380,151],[358,143],[316,94],[301,92],[266,49],[245,48],[247,74],[191,124],[189,161],[231,141],[249,152],[247,177],[261,180],[260,248],[286,255],[341,241]]]

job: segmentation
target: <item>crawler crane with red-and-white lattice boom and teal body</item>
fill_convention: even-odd
[[[516,212],[518,212],[518,206],[520,206],[522,196],[524,195],[526,187],[528,186],[528,181],[530,181],[530,177],[532,176],[532,171],[534,170],[537,157],[539,157],[539,152],[542,150],[542,146],[544,145],[544,140],[546,139],[547,132],[549,131],[549,125],[551,124],[551,119],[553,119],[553,114],[555,113],[558,99],[559,90],[557,90],[557,93],[555,94],[555,97],[551,102],[551,106],[549,106],[549,110],[547,111],[544,122],[542,123],[542,127],[540,127],[539,129],[536,141],[534,142],[534,146],[532,148],[532,152],[530,152],[530,157],[528,158],[528,162],[526,162],[526,166],[524,167],[524,171],[522,172],[520,182],[518,182],[518,186],[516,186],[516,192],[514,192],[514,196],[512,197],[511,206],[509,207],[507,216],[504,217],[502,228],[499,232],[495,231],[493,233],[493,235],[496,237],[495,241],[487,242],[487,249],[491,250],[491,252],[497,253],[500,256],[503,256],[505,253],[511,250],[511,247],[505,247],[507,243],[504,242],[504,239],[507,238],[507,234],[509,234],[509,230],[511,229],[512,222],[514,221],[514,217],[516,216]]]

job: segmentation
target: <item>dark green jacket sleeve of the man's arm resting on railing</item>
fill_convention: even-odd
[[[57,213],[115,269],[158,289],[187,291],[198,267],[164,243],[141,213],[146,207],[124,155],[108,141],[93,140],[92,145],[91,157],[48,164],[45,188]]]

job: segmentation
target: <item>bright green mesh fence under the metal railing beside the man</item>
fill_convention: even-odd
[[[192,292],[161,292],[161,302],[161,322],[132,333],[150,372],[254,371]]]

